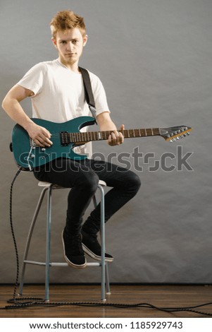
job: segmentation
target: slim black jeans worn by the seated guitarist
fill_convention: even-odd
[[[107,221],[122,206],[137,194],[140,179],[134,172],[101,160],[80,162],[59,158],[34,170],[39,181],[51,182],[71,188],[68,194],[66,231],[79,234],[82,217],[94,196],[99,179],[112,187],[105,195],[105,220]],[[95,233],[100,229],[100,204],[85,221],[85,232]]]

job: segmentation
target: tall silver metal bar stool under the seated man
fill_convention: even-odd
[[[39,196],[39,200],[37,202],[37,206],[35,208],[35,213],[32,218],[32,222],[30,224],[30,230],[27,235],[27,242],[25,244],[25,251],[23,255],[23,266],[20,274],[20,285],[19,285],[19,295],[23,294],[23,285],[24,285],[24,277],[25,277],[25,268],[26,264],[39,265],[46,267],[46,276],[45,276],[45,300],[49,302],[49,268],[50,266],[68,266],[68,263],[62,262],[51,262],[50,261],[50,235],[51,235],[51,196],[52,190],[55,189],[67,189],[62,186],[58,186],[56,184],[51,184],[49,182],[39,182],[38,186],[42,187],[42,192]],[[104,181],[99,180],[98,189],[100,191],[100,201],[101,201],[101,261],[98,262],[87,262],[87,266],[100,266],[101,267],[101,300],[106,301],[106,294],[111,294],[109,277],[108,277],[108,263],[105,261],[105,213],[104,213],[104,186],[106,183]],[[37,220],[37,216],[39,214],[39,210],[42,206],[42,202],[44,196],[47,191],[47,213],[46,213],[46,261],[30,261],[27,260],[28,251],[30,249],[30,242],[32,239],[32,232],[35,227],[35,223]],[[96,196],[93,197],[93,203],[96,207]],[[70,266],[69,266],[70,268]],[[106,289],[105,289],[106,285]]]

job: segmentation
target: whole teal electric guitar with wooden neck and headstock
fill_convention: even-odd
[[[107,140],[111,131],[90,131],[80,132],[85,126],[94,124],[93,117],[77,117],[76,119],[61,124],[42,119],[32,119],[35,124],[43,126],[51,133],[53,145],[49,148],[37,146],[35,141],[28,136],[22,126],[16,124],[12,131],[12,146],[15,162],[25,169],[41,166],[56,158],[69,158],[83,160],[87,155],[78,155],[73,151],[77,145],[89,141]],[[172,128],[151,128],[151,129],[125,129],[122,132],[125,138],[162,136],[166,141],[176,141],[182,136],[189,134],[192,128],[187,126],[175,126]]]

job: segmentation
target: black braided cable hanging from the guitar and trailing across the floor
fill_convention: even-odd
[[[10,189],[10,225],[11,225],[11,234],[13,237],[13,244],[15,248],[15,258],[16,258],[16,278],[15,286],[13,290],[13,298],[7,300],[10,305],[5,307],[0,307],[0,310],[8,309],[22,309],[27,307],[60,307],[60,306],[78,306],[78,307],[115,307],[115,308],[149,308],[155,309],[162,312],[193,312],[195,314],[212,316],[210,312],[201,312],[197,310],[200,307],[206,307],[207,305],[212,304],[212,302],[199,304],[192,307],[156,307],[154,304],[150,303],[135,303],[135,304],[125,304],[125,303],[106,303],[106,302],[46,302],[46,300],[40,297],[17,297],[17,288],[18,288],[18,278],[19,278],[19,257],[18,257],[18,246],[15,239],[15,232],[13,228],[13,185],[18,175],[20,174],[22,167],[18,168],[18,171],[11,182]]]

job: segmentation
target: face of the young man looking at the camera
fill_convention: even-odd
[[[87,36],[82,37],[78,28],[66,31],[58,30],[56,39],[52,38],[62,64],[73,65],[79,61],[82,49],[87,42]]]

